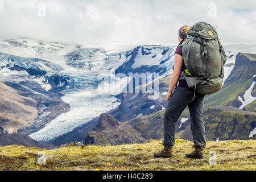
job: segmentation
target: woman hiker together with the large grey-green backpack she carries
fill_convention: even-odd
[[[164,113],[164,149],[155,152],[155,157],[173,156],[175,123],[187,106],[195,150],[186,156],[204,157],[204,97],[221,89],[226,63],[226,53],[216,28],[209,23],[199,22],[192,27],[182,26],[179,29],[180,43],[175,51],[174,71],[166,96],[169,102]]]

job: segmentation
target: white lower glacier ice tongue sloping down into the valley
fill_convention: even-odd
[[[49,142],[120,104],[116,102],[117,98],[108,94],[95,94],[94,90],[69,93],[62,99],[71,106],[71,110],[47,123],[43,129],[32,133],[31,138]]]

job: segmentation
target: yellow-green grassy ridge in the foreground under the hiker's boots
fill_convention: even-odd
[[[161,140],[119,146],[61,147],[44,150],[46,164],[37,163],[40,148],[0,147],[0,170],[256,170],[256,140],[207,142],[204,159],[187,159],[192,142],[176,139],[174,158],[153,157]],[[209,164],[210,151],[216,164]]]

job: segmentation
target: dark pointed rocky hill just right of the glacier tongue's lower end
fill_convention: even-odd
[[[84,144],[123,144],[133,142],[144,142],[140,135],[125,126],[125,124],[118,122],[112,115],[101,114],[97,126],[93,131],[89,132],[85,139]]]

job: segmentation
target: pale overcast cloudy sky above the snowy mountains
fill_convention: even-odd
[[[64,42],[177,43],[184,24],[217,25],[222,43],[256,43],[256,1],[0,0],[0,36]]]

